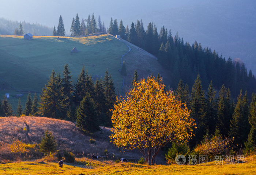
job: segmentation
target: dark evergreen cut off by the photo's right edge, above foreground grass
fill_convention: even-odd
[[[245,144],[245,153],[250,154],[256,151],[256,94],[252,94],[252,102],[250,104],[250,114],[248,119],[251,129]]]

